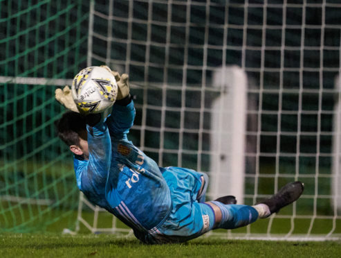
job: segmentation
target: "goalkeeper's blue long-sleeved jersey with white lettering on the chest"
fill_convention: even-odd
[[[133,230],[152,232],[169,214],[171,195],[156,162],[127,139],[134,117],[131,101],[113,105],[105,123],[88,126],[89,160],[74,158],[75,175],[91,203]]]

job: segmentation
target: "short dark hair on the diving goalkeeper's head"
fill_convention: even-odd
[[[84,117],[80,113],[68,111],[55,121],[57,136],[68,146],[80,145],[80,132],[86,130]]]

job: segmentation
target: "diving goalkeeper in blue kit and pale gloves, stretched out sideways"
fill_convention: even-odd
[[[183,242],[216,228],[245,226],[301,196],[303,184],[292,182],[254,206],[236,205],[233,196],[205,202],[207,175],[159,167],[127,139],[135,117],[128,76],[112,73],[118,96],[109,117],[80,114],[66,86],[57,89],[55,97],[71,111],[63,114],[56,127],[74,154],[80,191],[131,227],[143,243]]]

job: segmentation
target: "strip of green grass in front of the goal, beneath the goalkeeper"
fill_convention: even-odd
[[[212,237],[147,246],[107,234],[1,234],[0,257],[340,257],[341,242],[240,241]]]

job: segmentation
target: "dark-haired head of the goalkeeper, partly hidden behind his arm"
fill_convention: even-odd
[[[55,122],[57,134],[70,150],[84,160],[89,159],[86,121],[80,113],[68,111]]]

